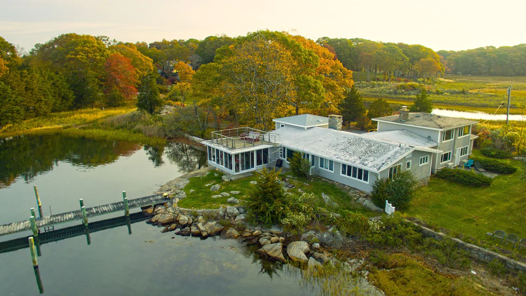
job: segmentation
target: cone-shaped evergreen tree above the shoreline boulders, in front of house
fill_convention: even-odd
[[[256,172],[257,185],[248,194],[249,218],[266,226],[281,221],[288,211],[285,202],[285,190],[279,183],[281,170],[267,170],[265,167]]]

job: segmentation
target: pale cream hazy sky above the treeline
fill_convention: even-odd
[[[524,11],[523,0],[0,0],[0,36],[30,51],[65,33],[151,43],[269,29],[458,51],[526,43]]]

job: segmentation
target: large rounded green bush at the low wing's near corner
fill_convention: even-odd
[[[410,171],[399,172],[393,179],[376,180],[372,186],[372,201],[383,208],[386,200],[397,209],[406,208],[413,198],[417,182]]]

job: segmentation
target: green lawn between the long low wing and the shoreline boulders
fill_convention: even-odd
[[[216,176],[217,174],[217,176]],[[240,200],[240,205],[245,203],[247,195],[251,190],[257,188],[257,185],[250,184],[250,181],[256,181],[256,176],[248,176],[242,179],[235,181],[223,182],[221,176],[223,174],[218,171],[210,171],[206,176],[203,177],[193,177],[190,178],[190,182],[184,188],[186,192],[186,199],[179,201],[179,206],[187,209],[217,209],[221,205],[227,205],[227,199],[230,197],[221,197],[221,198],[212,198],[212,195],[217,195],[220,192],[230,191],[239,191],[239,194],[232,194],[235,198]],[[290,175],[285,173],[284,175]],[[312,182],[310,181],[312,180]],[[211,192],[210,186],[205,186],[206,184],[220,184],[221,188],[219,192]],[[313,193],[319,198],[318,205],[325,206],[323,199],[321,198],[321,193],[325,193],[330,196],[332,201],[338,204],[336,209],[328,209],[333,212],[338,212],[340,210],[349,210],[349,211],[358,211],[366,216],[378,216],[380,213],[371,212],[363,206],[355,202],[355,200],[348,194],[348,191],[345,189],[338,188],[335,184],[329,184],[328,182],[322,181],[318,177],[313,177],[313,179],[292,179],[290,178],[290,183],[295,184],[295,187],[288,189],[287,192],[294,194],[301,194],[299,190],[303,192]],[[299,189],[299,190],[298,190]],[[193,192],[190,192],[194,190]]]

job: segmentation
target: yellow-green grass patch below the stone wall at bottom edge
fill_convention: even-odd
[[[477,277],[446,277],[403,254],[391,254],[389,259],[396,262],[394,268],[369,273],[371,282],[386,295],[494,295],[482,287]]]

